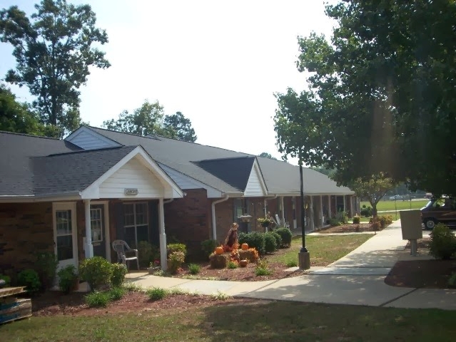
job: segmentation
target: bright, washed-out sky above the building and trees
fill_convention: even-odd
[[[0,0],[31,14],[31,0]],[[69,1],[89,3],[111,68],[91,69],[81,88],[81,118],[101,126],[122,110],[158,100],[166,114],[181,111],[196,142],[280,159],[273,115],[276,92],[305,88],[298,73],[297,36],[330,34],[320,0],[301,1]],[[14,68],[0,43],[0,77]],[[21,100],[26,88],[11,87]],[[295,160],[290,160],[297,164]]]

